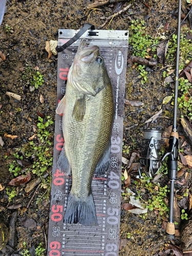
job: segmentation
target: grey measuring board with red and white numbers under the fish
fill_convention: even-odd
[[[65,44],[78,30],[59,30],[58,46]],[[100,48],[110,76],[115,102],[115,116],[111,136],[111,163],[104,175],[94,175],[92,194],[98,226],[65,224],[71,174],[57,169],[57,159],[63,146],[62,117],[55,118],[51,206],[49,220],[48,255],[117,256],[121,206],[121,154],[123,136],[123,104],[128,49],[128,31],[88,30],[73,45],[58,53],[57,104],[65,95],[69,68],[82,38]]]

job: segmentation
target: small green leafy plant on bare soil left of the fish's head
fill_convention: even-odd
[[[44,82],[44,75],[41,75],[39,71],[34,70],[30,67],[26,67],[23,72],[23,80],[27,80],[25,86],[34,87],[34,89],[38,89],[39,86],[42,86]]]

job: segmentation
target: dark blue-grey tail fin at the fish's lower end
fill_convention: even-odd
[[[78,223],[84,226],[98,225],[93,195],[90,194],[85,201],[82,201],[73,197],[70,193],[68,197],[66,214],[64,216],[64,223]]]

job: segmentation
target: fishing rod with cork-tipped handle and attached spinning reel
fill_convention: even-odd
[[[168,151],[160,158],[158,150],[161,149],[162,137],[160,130],[144,130],[143,151],[140,164],[145,166],[145,172],[148,176],[153,177],[162,165],[162,162],[168,157],[168,179],[170,181],[170,194],[169,194],[169,218],[166,226],[166,233],[171,237],[175,237],[175,224],[173,220],[174,209],[174,183],[177,179],[177,166],[178,166],[178,139],[177,132],[177,102],[178,102],[178,78],[179,78],[179,49],[180,49],[180,28],[181,28],[181,0],[178,4],[178,24],[177,24],[177,51],[176,51],[176,69],[175,69],[175,89],[174,89],[174,115],[173,127],[169,137]],[[141,170],[139,169],[139,176]]]

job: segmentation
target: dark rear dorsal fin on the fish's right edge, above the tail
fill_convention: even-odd
[[[95,173],[96,175],[104,174],[110,165],[110,153],[111,153],[111,143],[109,142],[106,151],[104,152],[103,156],[100,158],[99,162],[97,163]]]

